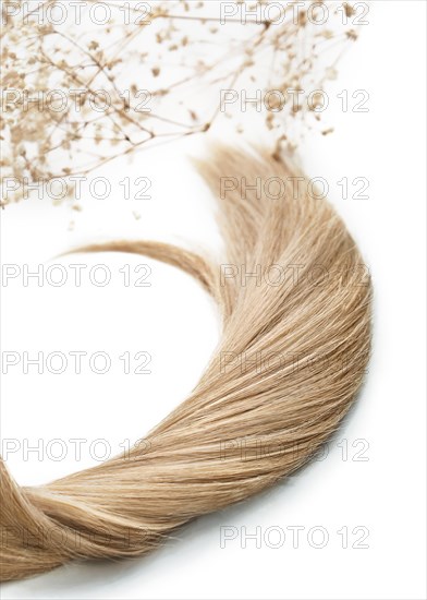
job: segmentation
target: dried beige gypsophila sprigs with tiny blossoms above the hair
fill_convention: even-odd
[[[96,3],[89,0],[88,5]],[[16,4],[22,10],[11,11]],[[324,2],[335,17],[325,26],[307,19],[313,4],[307,2],[307,10],[297,12],[296,19],[294,11],[280,24],[248,19],[237,31],[239,19],[221,24],[218,10],[212,13],[212,4],[218,8],[218,3],[155,1],[146,13],[138,11],[139,4],[102,4],[111,7],[112,16],[95,35],[87,10],[82,11],[84,26],[54,25],[47,13],[58,0],[44,0],[25,19],[23,0],[3,2],[2,181],[14,178],[32,183],[84,176],[155,141],[206,132],[222,117],[243,133],[239,113],[221,111],[221,89],[245,86],[264,94],[274,89],[283,97],[289,97],[289,89],[321,91],[328,79],[335,77],[346,43],[357,37],[351,24],[340,25],[333,2]],[[267,2],[236,4],[254,10]],[[136,16],[123,23],[125,5]],[[353,14],[349,3],[343,7],[347,16]],[[64,98],[65,106],[58,110],[58,101],[63,105]],[[301,131],[294,128],[293,133],[293,122],[313,128],[320,113],[316,104],[292,101],[278,110],[276,101],[272,96],[264,118],[278,153],[282,145],[288,151],[296,146]],[[321,131],[325,134],[331,128]],[[9,191],[2,205],[21,200],[22,193],[22,185]],[[68,195],[73,194],[70,182]]]

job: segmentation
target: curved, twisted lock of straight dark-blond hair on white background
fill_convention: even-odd
[[[221,312],[218,348],[190,397],[130,454],[27,488],[0,461],[2,580],[151,551],[176,527],[295,471],[355,398],[369,357],[371,286],[341,218],[306,192],[243,193],[245,177],[301,176],[260,152],[215,147],[197,167],[218,199],[221,260],[150,241],[78,251],[141,253],[196,277]],[[225,176],[233,183],[220,193]],[[243,285],[241,269],[257,277]],[[266,357],[257,368],[256,357]],[[256,452],[259,441],[267,453]]]

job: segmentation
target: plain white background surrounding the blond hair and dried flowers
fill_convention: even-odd
[[[330,200],[344,217],[374,278],[374,355],[359,401],[328,448],[328,456],[245,504],[198,519],[152,555],[117,564],[70,564],[50,574],[3,585],[4,599],[136,598],[425,598],[425,19],[423,1],[375,1],[369,26],[340,64],[340,88],[369,91],[368,113],[333,117],[335,133],[314,134],[301,149],[306,171],[330,182],[369,179],[369,199]],[[337,89],[338,89],[337,87]],[[216,308],[178,269],[123,254],[53,259],[91,240],[150,238],[191,248],[218,247],[212,200],[187,156],[207,154],[207,137],[144,153],[131,166],[109,166],[119,181],[154,181],[152,200],[88,203],[68,231],[66,208],[24,202],[2,212],[3,263],[106,263],[107,288],[2,288],[2,350],[103,350],[111,356],[149,351],[150,375],[110,373],[2,376],[3,439],[106,439],[113,453],[135,441],[185,398],[220,335]],[[49,263],[49,260],[51,261]],[[124,287],[123,264],[149,264],[150,288]],[[368,460],[352,460],[365,440]],[[349,457],[343,459],[343,444]],[[22,442],[23,443],[23,442]],[[340,446],[338,444],[341,444]],[[344,442],[345,444],[345,442]],[[8,465],[20,484],[38,484],[96,464],[84,454],[62,461]],[[242,538],[220,547],[220,527],[303,526],[278,549]],[[308,543],[324,527],[329,542]],[[343,549],[343,526],[368,528],[368,549]],[[351,542],[354,537],[350,536]],[[271,541],[274,541],[273,539]],[[351,544],[350,544],[351,545]]]

